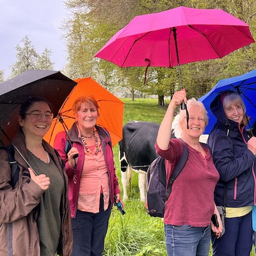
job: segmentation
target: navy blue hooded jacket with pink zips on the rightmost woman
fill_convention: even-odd
[[[224,184],[227,182],[227,207],[255,204],[255,156],[248,150],[249,140],[245,127],[228,119],[223,110],[220,95],[211,103],[211,111],[217,122],[209,134],[207,143],[212,148],[214,164],[220,173],[215,189],[216,205],[223,205]]]

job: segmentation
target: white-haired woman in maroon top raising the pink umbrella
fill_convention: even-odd
[[[211,152],[199,142],[208,123],[204,105],[195,99],[187,100],[185,90],[173,94],[159,127],[156,152],[167,160],[166,175],[169,179],[182,152],[181,141],[170,140],[173,114],[182,101],[187,104],[189,120],[187,123],[186,110],[181,110],[179,126],[181,138],[188,146],[189,157],[182,172],[173,182],[172,193],[165,204],[166,249],[168,256],[208,256],[211,228],[216,236],[220,236],[222,231],[213,195],[219,174]],[[218,216],[219,228],[211,223],[213,214]]]

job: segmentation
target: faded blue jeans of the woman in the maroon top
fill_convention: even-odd
[[[168,256],[209,256],[211,227],[164,224]]]

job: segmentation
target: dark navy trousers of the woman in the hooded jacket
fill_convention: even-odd
[[[225,218],[225,234],[212,238],[214,256],[249,256],[252,250],[252,212],[237,218]]]

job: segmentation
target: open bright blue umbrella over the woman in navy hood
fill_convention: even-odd
[[[212,114],[210,104],[214,98],[222,92],[233,90],[241,95],[246,106],[246,114],[250,116],[250,124],[247,128],[252,127],[256,120],[256,69],[241,76],[221,79],[212,88],[212,90],[202,96],[198,101],[204,103],[205,109],[209,116],[209,124],[205,128],[204,134],[209,134],[216,123],[216,117]]]

